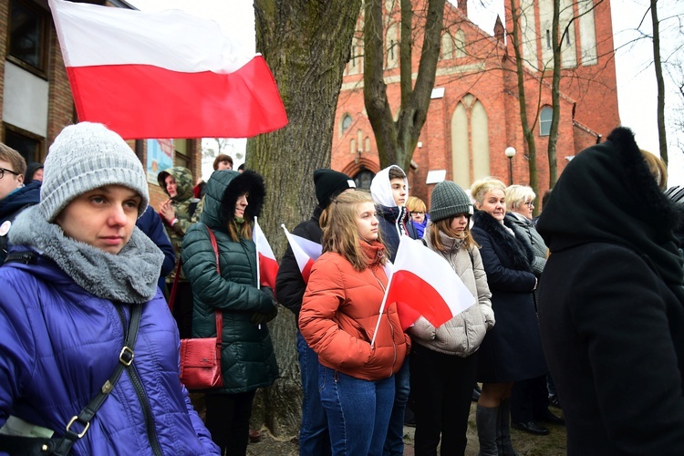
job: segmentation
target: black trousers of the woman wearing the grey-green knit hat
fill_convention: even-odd
[[[477,353],[445,355],[417,343],[411,347],[410,381],[416,415],[415,454],[464,454]]]

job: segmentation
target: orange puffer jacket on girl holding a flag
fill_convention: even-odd
[[[409,352],[397,306],[386,306],[375,347],[370,347],[387,275],[377,258],[380,244],[364,244],[371,264],[358,272],[340,254],[322,254],[311,271],[299,314],[299,330],[327,368],[354,378],[378,380],[396,373]]]

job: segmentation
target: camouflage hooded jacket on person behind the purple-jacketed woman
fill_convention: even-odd
[[[171,245],[173,245],[173,252],[176,254],[176,258],[181,258],[181,244],[183,242],[183,236],[191,227],[192,223],[197,223],[200,220],[200,214],[202,213],[202,202],[194,198],[192,193],[192,172],[187,168],[182,166],[174,166],[167,170],[161,171],[157,175],[157,181],[159,181],[160,187],[166,192],[166,178],[171,175],[173,179],[176,180],[176,196],[171,198],[171,207],[176,213],[176,218],[178,222],[173,223],[170,226],[169,223],[164,221],[164,229],[171,239]],[[192,213],[191,212],[192,209]],[[162,219],[163,220],[163,219]],[[176,276],[176,268],[174,267],[171,274],[166,276],[166,283],[172,284],[173,279]],[[185,280],[185,276],[181,271],[181,281]]]

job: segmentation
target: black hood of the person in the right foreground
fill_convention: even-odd
[[[579,244],[620,244],[648,256],[668,282],[681,284],[682,259],[672,234],[680,212],[658,188],[631,130],[571,161],[544,206],[537,231],[552,253]]]

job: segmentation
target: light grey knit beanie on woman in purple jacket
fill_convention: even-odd
[[[138,215],[150,202],[145,171],[126,141],[102,124],[80,122],[62,130],[47,154],[40,213],[52,222],[79,195],[118,184],[138,192]]]

